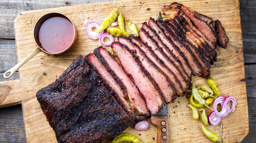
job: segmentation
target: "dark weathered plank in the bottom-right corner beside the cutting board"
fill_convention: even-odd
[[[249,134],[241,143],[255,143],[256,135],[256,98],[248,98]]]

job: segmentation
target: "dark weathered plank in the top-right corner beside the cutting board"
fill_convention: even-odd
[[[244,54],[256,54],[256,1],[240,0]]]

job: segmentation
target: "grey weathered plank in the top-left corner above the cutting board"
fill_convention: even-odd
[[[9,0],[0,2],[0,39],[14,39],[14,30],[13,30],[13,20],[20,14],[22,11],[28,10],[37,10],[37,9],[45,9],[45,8],[57,8],[57,7],[65,7],[65,6],[75,6],[82,4],[90,4],[90,3],[99,3],[99,2],[107,2],[107,1],[115,1],[115,0]]]

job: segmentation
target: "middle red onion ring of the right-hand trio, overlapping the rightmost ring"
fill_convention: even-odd
[[[227,106],[225,106],[226,108],[223,107],[223,101],[224,101],[225,97],[220,96],[218,98],[215,99],[215,101],[213,102],[213,110],[216,113],[217,116],[219,117],[226,117],[230,111],[230,105],[227,102]],[[222,110],[220,112],[217,111],[217,105],[221,104]]]

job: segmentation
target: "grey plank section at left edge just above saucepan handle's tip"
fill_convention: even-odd
[[[0,72],[17,64],[15,40],[0,40]]]

